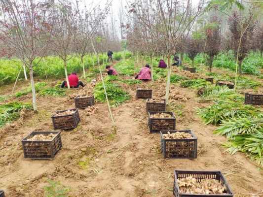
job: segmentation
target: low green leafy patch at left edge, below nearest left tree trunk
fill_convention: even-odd
[[[22,102],[9,102],[0,105],[0,127],[6,123],[16,120],[20,117],[20,111],[23,109],[32,109],[31,104]]]

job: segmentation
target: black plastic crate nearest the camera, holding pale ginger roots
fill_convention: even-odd
[[[233,197],[233,193],[231,191],[231,188],[229,187],[225,176],[221,173],[221,171],[191,171],[191,170],[174,170],[174,196],[175,197]],[[182,194],[179,191],[179,185],[178,185],[178,179],[186,178],[192,176],[193,178],[196,178],[197,181],[201,181],[202,179],[216,179],[218,180],[222,185],[225,186],[226,191],[225,194]]]

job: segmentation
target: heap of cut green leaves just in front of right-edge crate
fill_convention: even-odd
[[[218,101],[209,107],[199,108],[197,113],[205,124],[217,125],[230,118],[257,116],[260,110],[251,105],[244,105],[242,102],[226,100]]]

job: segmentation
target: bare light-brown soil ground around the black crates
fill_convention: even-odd
[[[24,83],[24,82],[23,82]],[[18,89],[25,87],[20,82]],[[54,84],[54,82],[48,82]],[[113,108],[112,126],[106,103],[96,103],[95,114],[79,110],[81,122],[72,131],[62,131],[63,149],[54,160],[24,159],[21,139],[31,131],[53,130],[51,114],[74,108],[74,99],[38,96],[38,113],[25,115],[0,131],[0,189],[6,197],[44,197],[47,180],[71,188],[71,197],[173,197],[174,169],[221,170],[236,197],[262,197],[263,171],[244,154],[233,156],[221,146],[224,136],[213,134],[214,126],[204,125],[195,108],[200,103],[190,89],[172,87],[189,98],[175,100],[176,128],[191,129],[198,137],[195,160],[165,160],[160,153],[159,134],[150,134],[146,101],[135,99],[136,85],[124,85],[132,99]],[[163,95],[165,83],[156,82],[153,97]],[[68,95],[77,93],[70,90]],[[4,86],[1,95],[10,94]],[[31,101],[31,95],[22,98]]]

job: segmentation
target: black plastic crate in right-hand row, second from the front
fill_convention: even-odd
[[[169,131],[187,132],[190,133],[191,139],[164,139],[162,134],[167,134],[168,131],[160,131],[161,151],[164,158],[172,159],[195,159],[197,158],[197,137],[190,130],[175,130]]]

